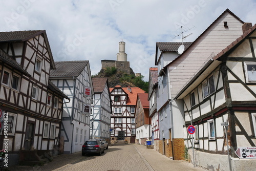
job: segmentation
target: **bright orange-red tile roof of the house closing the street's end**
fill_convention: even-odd
[[[138,88],[138,87],[131,87],[132,91],[130,92],[128,90],[128,88],[122,88],[121,86],[115,86],[115,88],[121,88],[127,95],[128,95],[128,99],[127,99],[127,103],[126,105],[136,105],[136,101],[137,101],[137,94],[138,93],[145,93],[144,90]],[[110,88],[110,93],[115,89],[115,88]]]

